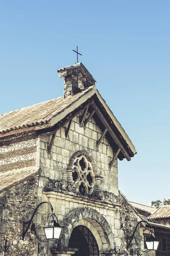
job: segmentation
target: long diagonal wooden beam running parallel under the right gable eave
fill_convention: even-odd
[[[116,143],[116,145],[118,146],[118,148],[120,148],[122,154],[125,156],[125,158],[127,159],[127,161],[130,161],[131,158],[129,156],[129,154],[127,153],[127,151],[125,150],[125,148],[123,147],[122,143],[119,141],[118,137],[116,136],[116,134],[113,132],[111,126],[108,124],[108,122],[106,121],[105,117],[103,116],[102,112],[99,110],[98,106],[94,103],[92,104],[92,107],[94,108],[94,110],[96,111],[97,115],[99,116],[99,118],[101,119],[103,125],[105,125],[105,128],[108,129],[108,133],[111,135],[112,139],[114,140],[114,142]]]

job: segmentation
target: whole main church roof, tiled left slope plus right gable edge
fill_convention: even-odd
[[[136,154],[134,145],[98,90],[96,90],[95,85],[66,99],[62,96],[0,115],[0,137],[22,132],[22,128],[26,128],[26,131],[50,128],[68,115],[69,111],[74,111],[75,108],[78,108],[78,105],[86,102],[94,94],[105,108],[105,112],[108,113],[111,124],[116,127],[119,137],[126,146],[127,153],[130,157],[133,157]]]

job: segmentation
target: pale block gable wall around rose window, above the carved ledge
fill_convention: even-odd
[[[113,158],[113,151],[105,137],[100,143],[99,148],[96,148],[96,142],[99,140],[102,132],[96,126],[95,120],[92,118],[86,125],[86,128],[83,128],[79,125],[79,116],[74,117],[68,138],[65,139],[67,126],[68,124],[57,131],[50,154],[47,151],[50,138],[46,134],[40,136],[42,187],[46,185],[49,178],[53,180],[68,180],[68,164],[71,157],[77,151],[85,151],[95,162],[96,174],[103,177],[101,179],[101,190],[118,196],[117,160],[109,169],[109,163]]]

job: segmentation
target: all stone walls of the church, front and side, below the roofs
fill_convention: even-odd
[[[23,241],[22,224],[23,217],[28,220],[37,204],[42,201],[51,202],[65,230],[57,245],[53,242],[41,243],[44,246],[42,255],[56,255],[51,253],[51,250],[55,251],[67,246],[71,232],[77,225],[85,225],[91,230],[101,256],[127,253],[125,237],[128,235],[128,230],[130,232],[133,230],[137,219],[136,212],[130,209],[125,198],[119,195],[117,159],[109,169],[109,163],[113,158],[111,146],[104,138],[99,148],[96,148],[96,142],[101,137],[102,131],[93,118],[86,128],[80,127],[80,118],[81,116],[78,115],[72,120],[67,138],[65,131],[68,124],[57,131],[50,154],[48,154],[48,145],[51,137],[47,134],[37,137],[32,132],[0,140],[1,172],[14,167],[15,169],[20,166],[25,167],[24,164],[27,163],[29,166],[40,166],[39,180],[31,178],[12,187],[8,192],[3,192],[0,215],[3,230],[1,247],[7,239],[10,245],[9,256],[36,255],[37,244],[34,233],[29,230]],[[77,185],[73,180],[71,181],[72,173],[68,175],[73,168],[71,166],[74,158],[79,154],[87,157],[94,170],[96,183],[92,195],[75,192],[73,188]],[[120,205],[122,205],[121,215]],[[42,239],[44,239],[42,227],[47,224],[49,214],[49,206],[43,204],[38,208],[34,219],[37,233]],[[130,247],[130,254],[133,253],[136,254],[134,246]]]

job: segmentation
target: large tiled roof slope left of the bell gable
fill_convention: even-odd
[[[1,114],[0,133],[24,127],[47,124],[65,108],[68,108],[92,89],[93,87],[91,86],[88,89],[66,99],[62,96],[57,99],[51,99],[46,102],[41,102],[26,108],[20,108]]]

